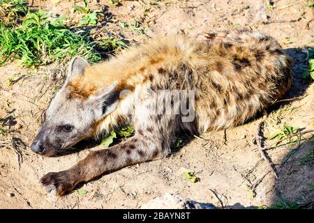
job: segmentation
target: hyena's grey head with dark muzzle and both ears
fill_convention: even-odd
[[[45,112],[43,124],[31,144],[41,155],[66,153],[78,141],[91,137],[93,126],[117,106],[116,84],[88,97],[73,97],[69,83],[80,79],[89,64],[80,58],[70,62],[68,77]]]

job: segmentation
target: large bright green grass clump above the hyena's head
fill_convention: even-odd
[[[68,61],[73,56],[99,61],[95,43],[70,31],[63,20],[64,17],[59,17],[50,22],[44,10],[36,10],[27,13],[21,26],[0,22],[0,66],[9,59],[20,59],[27,67]]]

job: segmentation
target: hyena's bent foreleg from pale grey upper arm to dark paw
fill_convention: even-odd
[[[157,95],[152,93],[141,96],[147,98],[138,100],[135,105],[133,114],[135,136],[110,148],[90,153],[84,160],[66,171],[43,176],[40,183],[47,192],[55,190],[57,195],[63,196],[72,191],[77,184],[87,182],[107,171],[157,160],[170,152],[170,143],[177,131],[179,116],[149,112],[149,108],[156,105]],[[176,103],[179,104],[179,101]]]

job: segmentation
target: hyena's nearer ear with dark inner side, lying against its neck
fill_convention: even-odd
[[[117,83],[114,83],[107,89],[100,91],[98,95],[89,99],[89,107],[93,109],[96,119],[101,119],[116,109],[119,99],[119,92],[116,86]]]

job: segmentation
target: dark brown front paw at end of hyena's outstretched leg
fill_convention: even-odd
[[[72,191],[75,187],[75,183],[66,171],[46,174],[40,178],[40,183],[48,194],[60,197]]]

